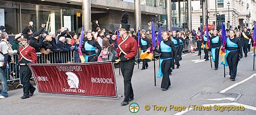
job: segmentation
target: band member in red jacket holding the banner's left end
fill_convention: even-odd
[[[22,99],[29,98],[34,94],[35,88],[29,82],[29,79],[32,75],[31,70],[28,67],[28,64],[34,64],[37,61],[37,55],[35,52],[35,48],[31,47],[28,44],[28,40],[26,38],[22,38],[23,47],[19,48],[19,58],[18,65],[20,65],[19,73],[20,80],[23,84],[23,96],[20,97]]]

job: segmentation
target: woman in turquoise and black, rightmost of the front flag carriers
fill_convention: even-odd
[[[229,67],[229,75],[232,81],[235,81],[237,76],[237,67],[239,59],[242,59],[242,44],[239,38],[234,37],[234,31],[229,31],[229,37],[227,38],[226,43],[226,55],[225,55],[225,66]],[[225,48],[224,47],[224,48]]]

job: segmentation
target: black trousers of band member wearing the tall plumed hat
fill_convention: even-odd
[[[121,56],[122,57],[122,54]],[[133,69],[134,69],[134,62],[135,58],[125,61],[119,62],[120,69],[123,75],[123,82],[124,82],[124,100],[128,101],[129,98],[133,98],[133,87],[132,87],[132,76],[133,76]]]

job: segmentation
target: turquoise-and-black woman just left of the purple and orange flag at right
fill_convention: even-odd
[[[212,60],[215,63],[215,70],[218,70],[219,67],[219,53],[220,53],[220,47],[221,47],[221,39],[218,36],[217,30],[214,30],[214,34],[212,34],[210,38],[210,50],[212,55]]]

